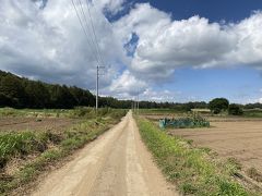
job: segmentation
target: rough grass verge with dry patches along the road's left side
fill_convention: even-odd
[[[119,122],[127,111],[102,109],[97,115],[86,118],[87,113],[90,112],[83,115],[84,121],[61,133],[26,131],[0,134],[0,195],[10,195],[17,188],[21,192],[48,168],[64,160]],[[28,156],[35,158],[27,160]],[[25,161],[13,173],[4,173],[5,167],[15,158]]]

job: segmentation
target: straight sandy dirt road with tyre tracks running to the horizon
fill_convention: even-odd
[[[152,161],[129,112],[123,120],[51,173],[37,196],[174,196]]]

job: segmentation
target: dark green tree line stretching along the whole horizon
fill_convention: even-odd
[[[131,108],[132,100],[118,100],[112,97],[99,97],[99,107]],[[47,84],[19,77],[12,73],[0,71],[0,107],[32,108],[32,109],[71,109],[79,106],[95,107],[95,96],[87,89],[76,86]],[[176,103],[140,101],[140,108],[168,108],[179,111],[190,111],[194,108],[209,108],[204,101]],[[262,108],[262,105],[242,106]]]

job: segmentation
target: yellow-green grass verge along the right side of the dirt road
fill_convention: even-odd
[[[136,121],[156,163],[182,195],[259,195],[237,182],[235,174],[239,166],[235,160],[217,162],[207,149],[193,148],[187,140],[167,135],[151,121]]]

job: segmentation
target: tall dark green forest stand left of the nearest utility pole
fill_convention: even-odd
[[[94,96],[88,90],[31,81],[0,71],[1,107],[68,109],[94,103]]]

